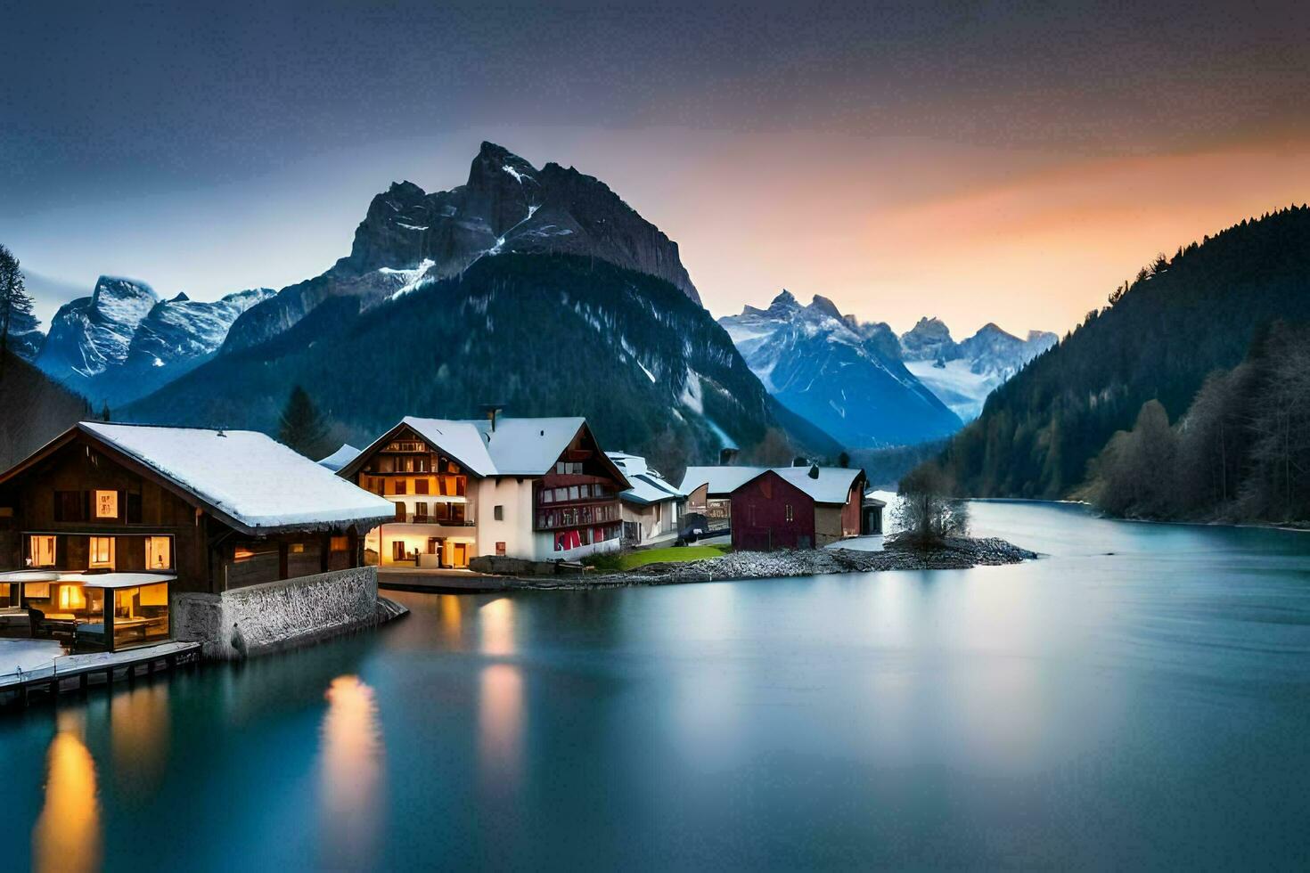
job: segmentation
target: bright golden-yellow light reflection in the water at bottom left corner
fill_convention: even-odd
[[[98,869],[96,762],[84,742],[84,725],[75,713],[59,715],[46,764],[46,802],[31,832],[33,868],[50,873]]]

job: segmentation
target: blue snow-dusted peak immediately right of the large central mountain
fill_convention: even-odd
[[[924,442],[960,419],[901,363],[882,323],[842,315],[827,297],[787,291],[768,309],[719,319],[751,370],[785,407],[853,448]]]

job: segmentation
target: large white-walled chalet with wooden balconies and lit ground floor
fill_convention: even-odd
[[[620,546],[631,487],[582,418],[405,418],[338,474],[393,504],[367,535],[381,567],[482,555],[574,560]]]

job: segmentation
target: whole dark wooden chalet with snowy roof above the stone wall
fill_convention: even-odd
[[[179,598],[359,568],[390,513],[263,433],[83,421],[0,474],[0,607],[75,649],[157,643]]]

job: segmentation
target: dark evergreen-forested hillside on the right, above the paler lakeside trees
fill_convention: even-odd
[[[1142,406],[1167,420],[1276,322],[1310,322],[1310,209],[1242,221],[1161,257],[988,399],[943,462],[977,496],[1058,497]]]

